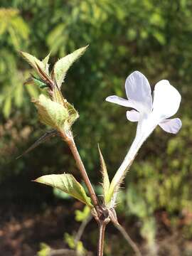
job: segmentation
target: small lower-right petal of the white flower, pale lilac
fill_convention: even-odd
[[[165,132],[176,134],[181,129],[182,122],[179,118],[166,119],[159,123],[159,126],[164,129]]]

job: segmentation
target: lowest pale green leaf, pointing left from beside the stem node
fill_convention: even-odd
[[[53,188],[58,188],[70,196],[78,199],[82,203],[92,208],[91,199],[86,195],[84,188],[74,178],[72,174],[51,174],[41,176],[35,180],[38,183],[43,183]]]

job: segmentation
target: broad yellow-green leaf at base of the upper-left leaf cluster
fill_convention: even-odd
[[[58,130],[65,128],[68,119],[68,110],[58,102],[53,102],[45,95],[40,95],[38,100],[33,100],[38,108],[38,116],[43,124],[48,124]]]

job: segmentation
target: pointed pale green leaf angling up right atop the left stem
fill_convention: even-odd
[[[68,69],[70,68],[70,66],[75,62],[75,60],[80,58],[80,56],[83,53],[85,53],[86,49],[87,49],[87,46],[82,47],[78,50],[75,50],[73,53],[66,55],[65,57],[61,58],[55,63],[53,71],[54,71],[55,81],[57,82],[59,88],[61,87],[61,84],[64,81],[65,75]]]

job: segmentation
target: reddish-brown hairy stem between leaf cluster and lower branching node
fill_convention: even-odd
[[[87,171],[85,170],[85,166],[82,163],[82,160],[80,158],[80,154],[78,152],[78,149],[75,145],[73,134],[70,132],[70,134],[65,134],[65,132],[60,132],[60,136],[65,140],[65,142],[68,143],[68,146],[70,147],[70,151],[72,152],[75,162],[78,166],[78,169],[80,170],[80,173],[82,175],[83,180],[85,181],[85,184],[87,186],[87,189],[90,193],[90,198],[92,199],[92,203],[95,206],[95,210],[99,208],[99,203],[97,200],[97,196],[95,194],[95,191],[92,188],[92,184],[90,183],[90,179],[87,176]]]

